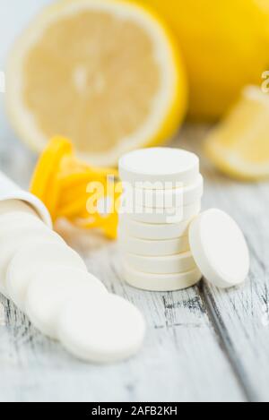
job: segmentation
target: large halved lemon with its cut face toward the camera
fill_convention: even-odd
[[[13,47],[7,105],[33,150],[72,139],[92,165],[161,144],[178,129],[187,83],[178,47],[152,11],[121,0],[65,0]]]

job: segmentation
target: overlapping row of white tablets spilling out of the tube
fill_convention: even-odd
[[[110,295],[26,203],[0,201],[0,247],[0,292],[74,356],[113,362],[142,345],[142,314]]]

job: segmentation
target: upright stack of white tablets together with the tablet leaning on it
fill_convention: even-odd
[[[172,291],[204,276],[217,287],[243,283],[246,240],[221,210],[201,213],[204,179],[187,150],[134,150],[119,160],[123,198],[118,244],[123,276],[133,287]]]

